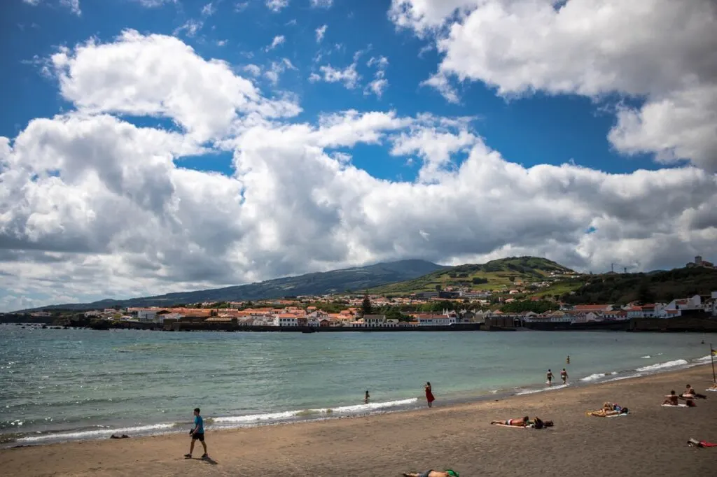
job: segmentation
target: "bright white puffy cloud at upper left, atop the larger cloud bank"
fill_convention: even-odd
[[[227,63],[207,62],[174,37],[127,30],[113,43],[62,49],[52,65],[62,97],[83,112],[171,117],[200,142],[226,133],[240,115],[298,113],[296,105],[265,100]]]

